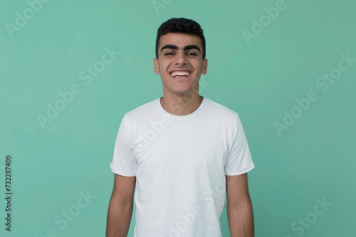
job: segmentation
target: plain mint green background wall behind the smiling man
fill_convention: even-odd
[[[166,3],[169,1],[166,1]],[[0,236],[104,236],[114,175],[109,164],[125,112],[162,95],[155,75],[155,37],[171,17],[204,28],[207,82],[201,94],[237,111],[256,168],[249,173],[256,236],[297,236],[290,225],[333,205],[302,236],[355,236],[356,63],[327,92],[315,80],[356,57],[355,1],[286,0],[286,9],[247,44],[241,31],[276,1],[172,1],[157,13],[151,0],[49,1],[11,38],[6,23],[26,1],[0,1],[0,215],[4,220],[4,160],[13,156],[13,225]],[[85,85],[79,72],[114,45],[120,55]],[[46,115],[73,84],[82,92],[43,130]],[[278,136],[295,99],[318,100]],[[96,198],[63,230],[53,219],[80,191]],[[133,235],[133,224],[129,236]],[[223,236],[229,236],[226,210]]]

